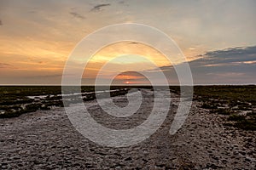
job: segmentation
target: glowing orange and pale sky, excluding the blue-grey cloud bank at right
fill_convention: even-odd
[[[109,5],[97,8],[99,4]],[[63,67],[76,44],[97,29],[119,23],[141,23],[160,29],[177,42],[188,60],[212,49],[254,45],[254,7],[255,3],[249,0],[2,0],[0,84],[60,84]],[[90,60],[84,78],[95,77],[103,63],[125,54],[127,59],[111,62],[113,69],[109,72],[154,69],[147,59],[158,66],[169,65],[154,48],[121,42],[102,48]],[[138,59],[136,54],[146,60]]]

